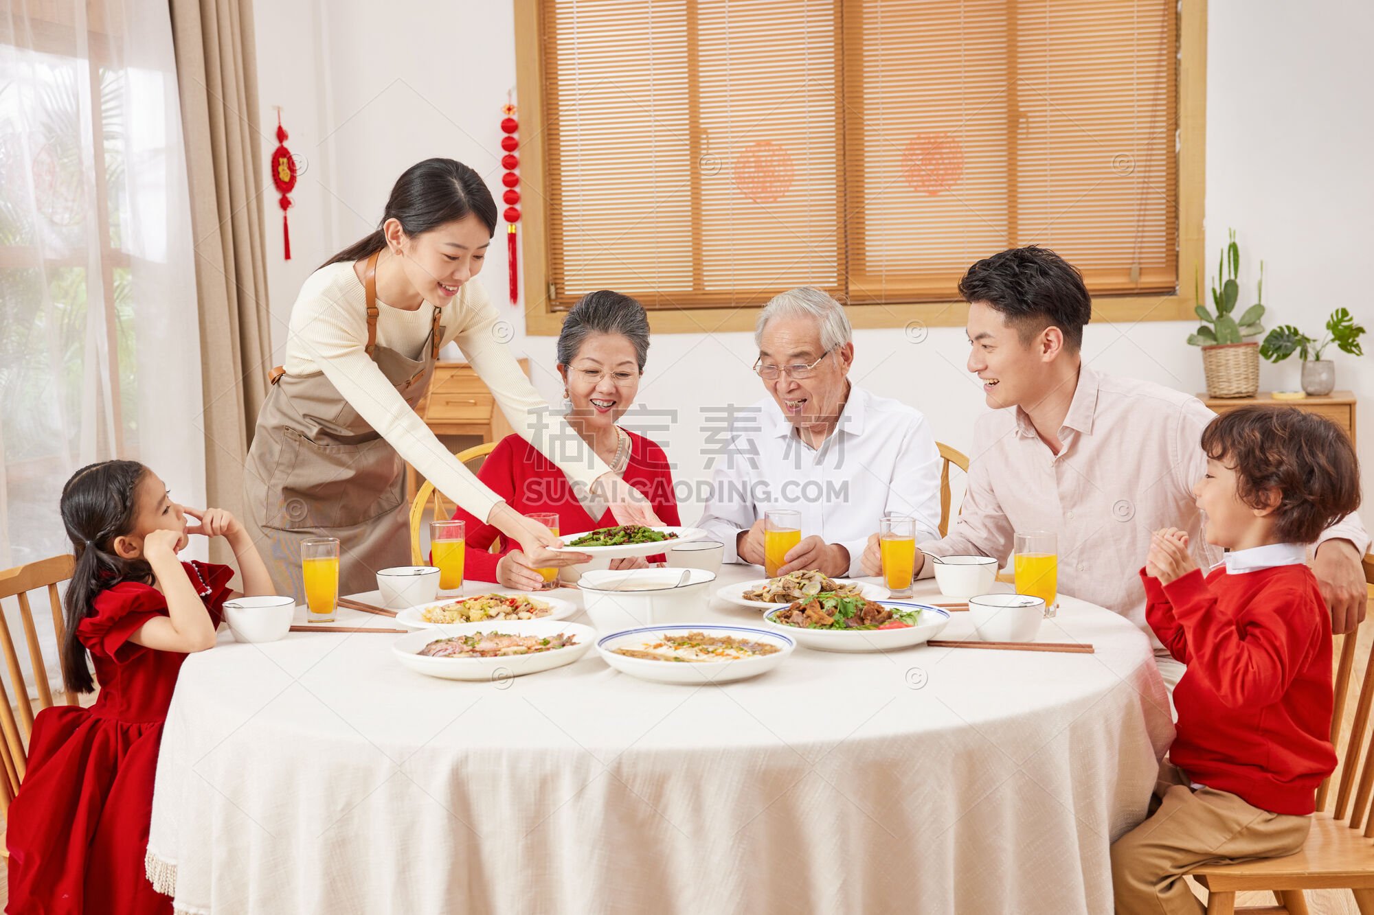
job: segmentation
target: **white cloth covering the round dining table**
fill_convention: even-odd
[[[181,668],[150,868],[216,915],[1109,912],[1169,706],[1140,631],[1062,605],[1040,640],[1095,654],[798,647],[708,687],[595,647],[456,683],[401,666],[394,636],[223,633]],[[966,635],[954,614],[943,637]]]

